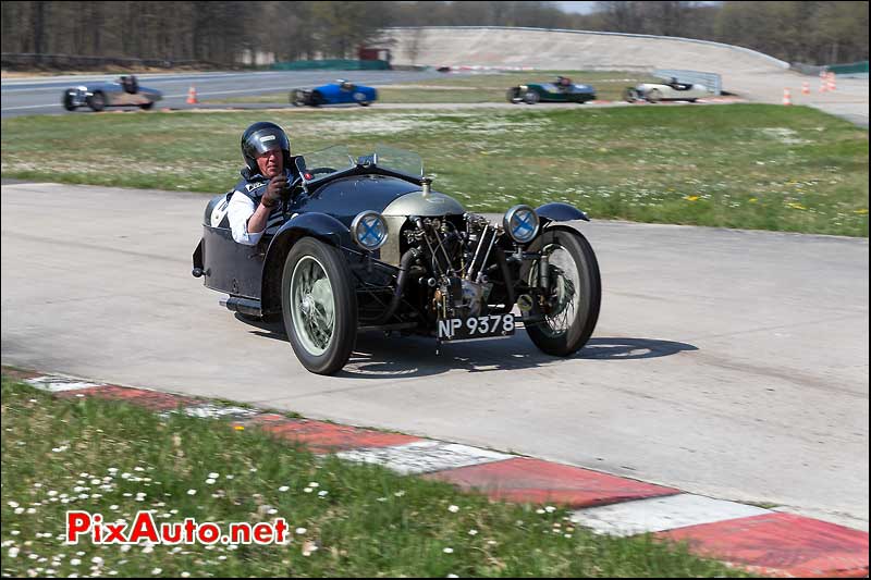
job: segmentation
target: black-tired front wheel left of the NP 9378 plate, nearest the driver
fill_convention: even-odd
[[[297,267],[300,270],[294,277]],[[311,323],[315,318],[322,319],[324,316],[329,318],[330,314],[323,308],[319,309],[323,303],[318,303],[317,297],[312,301],[315,294],[324,296],[323,286],[320,291],[315,287],[308,288],[310,292],[305,297],[297,294],[299,299],[294,303],[293,295],[307,289],[306,268],[310,269],[308,275],[326,274],[329,283],[333,310],[331,335],[326,346],[315,344],[314,341],[321,337],[312,338],[314,325],[318,322]],[[339,250],[311,237],[304,237],[294,244],[287,252],[281,276],[281,307],[287,338],[299,362],[306,369],[316,374],[333,374],[345,366],[357,340],[357,295],[347,262]],[[305,310],[320,313],[306,318]],[[308,329],[306,329],[307,322]],[[318,329],[320,330],[322,328]],[[317,351],[318,346],[321,346],[320,351]]]

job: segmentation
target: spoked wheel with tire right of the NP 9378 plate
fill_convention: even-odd
[[[536,301],[524,314],[526,332],[549,355],[573,355],[590,340],[599,319],[602,282],[596,255],[587,238],[567,230],[545,232],[529,249],[548,257],[550,299]],[[539,285],[539,261],[528,267],[530,286]]]

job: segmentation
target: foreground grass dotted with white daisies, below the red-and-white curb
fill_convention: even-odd
[[[738,577],[649,536],[575,528],[550,506],[490,503],[208,419],[56,399],[2,381],[4,576]],[[131,522],[283,517],[287,545],[65,545],[68,509]]]

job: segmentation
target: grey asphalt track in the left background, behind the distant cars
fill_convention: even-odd
[[[2,90],[2,116],[24,114],[64,113],[61,106],[64,89],[88,81],[111,81],[118,74],[75,75],[32,78],[4,78]],[[311,71],[311,72],[240,72],[240,73],[179,73],[179,74],[144,74],[137,75],[139,84],[156,88],[163,92],[163,100],[156,107],[174,109],[192,108],[185,103],[187,91],[193,85],[198,99],[222,99],[279,92],[293,88],[312,87],[332,83],[336,78],[346,78],[361,85],[388,85],[409,83],[426,78],[437,78],[441,73],[405,72],[405,71]],[[118,108],[135,110],[135,108]],[[108,111],[114,108],[107,109]],[[90,111],[84,107],[75,113]]]

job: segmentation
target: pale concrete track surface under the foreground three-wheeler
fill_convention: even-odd
[[[524,332],[441,356],[431,340],[376,333],[324,378],[303,369],[280,325],[236,318],[191,276],[207,199],[4,183],[2,362],[525,453],[868,530],[868,239],[585,223],[603,300],[577,356],[544,356]]]

